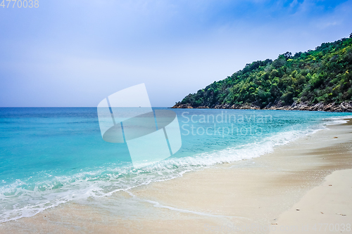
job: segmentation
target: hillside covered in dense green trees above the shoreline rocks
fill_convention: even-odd
[[[256,61],[191,93],[174,108],[240,108],[350,103],[352,34],[313,51]]]

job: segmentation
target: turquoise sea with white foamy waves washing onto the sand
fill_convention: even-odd
[[[173,111],[182,147],[166,160],[135,169],[125,143],[101,138],[96,108],[0,108],[0,222],[260,157],[351,117],[284,110]]]

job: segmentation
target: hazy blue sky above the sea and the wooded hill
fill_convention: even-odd
[[[6,3],[7,5],[7,3]],[[171,106],[254,60],[352,32],[350,1],[39,0],[0,7],[0,106],[96,106],[145,83]]]

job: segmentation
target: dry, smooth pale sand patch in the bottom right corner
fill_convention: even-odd
[[[271,233],[352,233],[352,169],[334,171],[291,209]]]

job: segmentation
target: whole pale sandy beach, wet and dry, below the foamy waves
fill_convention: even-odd
[[[331,125],[252,160],[0,223],[0,233],[348,233],[351,139],[352,121]]]

